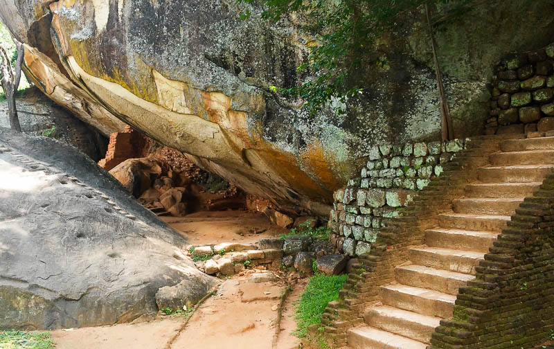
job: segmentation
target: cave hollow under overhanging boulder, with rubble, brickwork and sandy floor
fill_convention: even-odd
[[[272,224],[269,200],[244,193],[132,127],[111,134],[98,165],[190,244],[253,243],[289,232]]]

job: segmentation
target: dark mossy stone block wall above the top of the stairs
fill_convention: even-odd
[[[510,55],[495,66],[485,134],[554,129],[554,44]]]

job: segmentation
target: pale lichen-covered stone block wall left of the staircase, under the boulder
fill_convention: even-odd
[[[334,193],[329,219],[332,244],[349,256],[367,253],[379,228],[402,215],[415,193],[463,149],[462,139],[373,147],[361,177]]]

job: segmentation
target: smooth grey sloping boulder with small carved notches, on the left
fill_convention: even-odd
[[[132,321],[179,283],[197,301],[217,279],[185,244],[75,148],[0,128],[0,330]]]

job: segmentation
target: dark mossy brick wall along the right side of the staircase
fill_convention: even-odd
[[[534,348],[554,335],[554,175],[520,204],[431,348]]]

